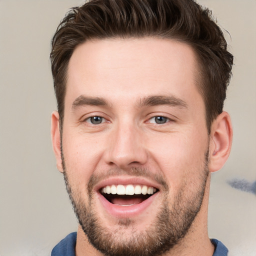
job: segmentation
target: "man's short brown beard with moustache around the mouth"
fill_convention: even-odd
[[[107,174],[92,174],[87,182],[88,202],[84,202],[78,189],[71,186],[68,171],[65,169],[63,154],[62,167],[66,190],[74,212],[88,241],[106,256],[153,256],[162,255],[178,244],[186,235],[195,216],[200,210],[208,178],[208,151],[205,153],[204,165],[201,167],[199,185],[195,192],[187,192],[189,185],[184,182],[171,205],[169,187],[162,175],[155,175],[145,168],[111,169]],[[109,230],[93,208],[92,188],[101,179],[110,175],[127,174],[150,177],[163,187],[162,204],[155,216],[155,221],[145,230],[137,230],[131,218],[118,219],[117,227]],[[188,189],[189,190],[189,189]],[[132,230],[132,231],[131,231]]]

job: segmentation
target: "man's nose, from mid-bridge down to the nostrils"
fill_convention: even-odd
[[[134,125],[119,125],[111,131],[105,162],[119,168],[142,165],[147,160],[143,133]]]

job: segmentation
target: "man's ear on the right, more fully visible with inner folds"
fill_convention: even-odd
[[[222,112],[211,125],[209,171],[217,171],[224,165],[231,150],[232,137],[230,116]]]

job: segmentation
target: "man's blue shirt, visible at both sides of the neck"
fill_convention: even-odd
[[[212,256],[227,256],[226,246],[217,239],[211,239],[211,243],[215,246]],[[51,251],[51,256],[75,256],[76,232],[68,234],[62,239]]]

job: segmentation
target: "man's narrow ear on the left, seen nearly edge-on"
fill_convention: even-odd
[[[57,169],[63,172],[61,150],[60,150],[60,131],[59,131],[59,114],[57,111],[51,113],[51,143],[56,158]]]

